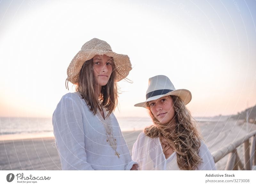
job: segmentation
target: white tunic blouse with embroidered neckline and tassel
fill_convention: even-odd
[[[78,92],[65,94],[53,115],[62,170],[130,170],[129,149],[113,113],[94,115]]]

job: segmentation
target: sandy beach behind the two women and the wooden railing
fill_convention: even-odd
[[[243,121],[227,122],[200,122],[198,123],[202,136],[211,153],[220,147],[232,143],[248,133],[256,130],[255,124],[248,127]],[[130,152],[141,130],[124,131],[123,135]],[[0,138],[0,169],[1,170],[61,170],[60,159],[55,147],[54,137],[51,133],[44,135],[30,136],[25,139],[16,135]],[[243,157],[243,146],[238,149],[240,157]],[[225,169],[228,156],[216,163],[217,170]],[[243,160],[242,160],[243,161]]]

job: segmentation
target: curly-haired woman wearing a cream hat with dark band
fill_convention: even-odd
[[[147,108],[154,123],[133,145],[139,170],[216,170],[185,106],[191,98],[190,91],[175,90],[166,76],[149,78],[146,101],[134,105]]]

